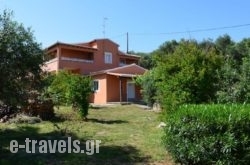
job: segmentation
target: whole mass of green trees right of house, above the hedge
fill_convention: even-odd
[[[173,110],[182,103],[250,102],[250,38],[167,41],[150,58],[150,74],[140,77],[150,104],[159,100],[165,110]]]

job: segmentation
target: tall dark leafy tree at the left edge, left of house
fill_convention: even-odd
[[[0,104],[20,106],[31,90],[40,88],[44,52],[30,28],[0,14]]]

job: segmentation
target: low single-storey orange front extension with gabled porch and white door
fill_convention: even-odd
[[[144,74],[145,71],[146,69],[136,64],[130,64],[90,73],[94,84],[91,102],[103,104],[140,101],[140,87],[135,85],[132,78]]]

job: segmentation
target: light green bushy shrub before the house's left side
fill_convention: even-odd
[[[89,108],[91,80],[78,74],[60,71],[55,77],[48,92],[57,104],[71,104],[79,110],[81,117],[86,118]]]

